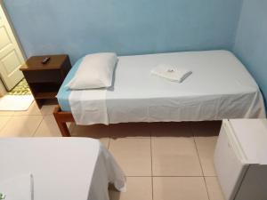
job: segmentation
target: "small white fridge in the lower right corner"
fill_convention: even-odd
[[[267,120],[223,120],[214,165],[226,200],[266,200]]]

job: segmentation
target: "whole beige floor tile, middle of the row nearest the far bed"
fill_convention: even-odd
[[[192,137],[152,137],[151,145],[154,176],[202,176]]]

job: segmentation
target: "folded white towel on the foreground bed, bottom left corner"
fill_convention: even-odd
[[[4,200],[33,200],[32,174],[28,173],[8,180],[1,180],[0,194]]]

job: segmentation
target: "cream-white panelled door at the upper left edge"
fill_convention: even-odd
[[[23,78],[20,66],[24,58],[2,6],[0,4],[0,76],[9,91]]]

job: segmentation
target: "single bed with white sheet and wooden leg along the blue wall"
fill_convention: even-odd
[[[70,136],[66,122],[74,121],[117,124],[265,117],[258,85],[228,51],[121,56],[111,88],[70,91],[65,85],[81,61],[70,70],[57,95],[60,105],[54,116],[63,136]],[[169,82],[151,76],[158,63],[190,68],[193,73],[182,84]],[[81,110],[86,115],[79,115]]]

